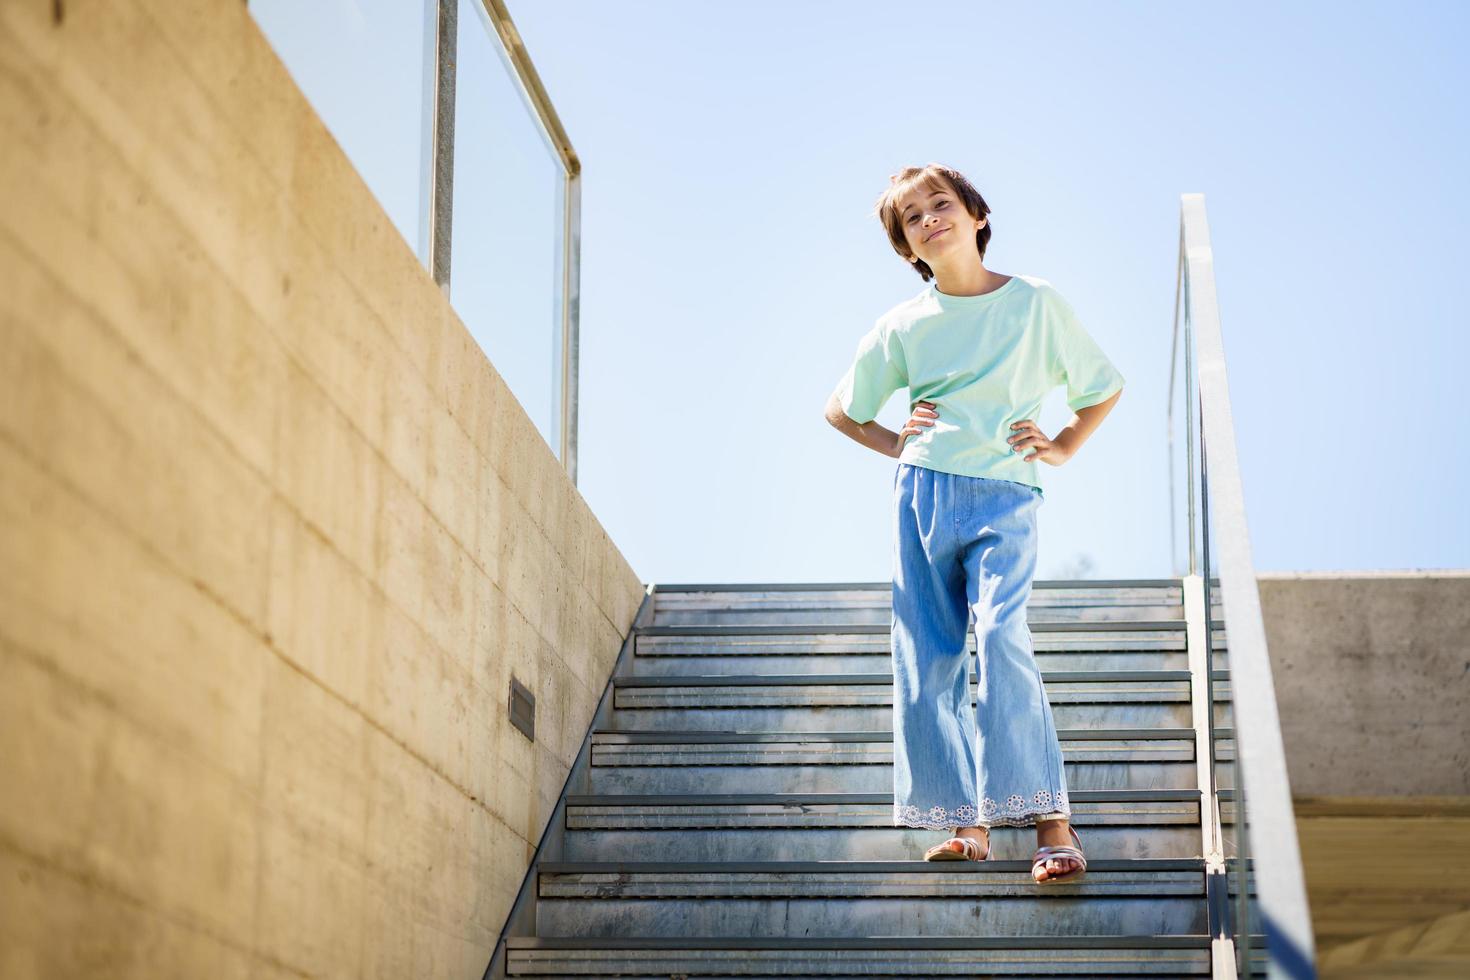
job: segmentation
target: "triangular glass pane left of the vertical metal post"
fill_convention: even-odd
[[[291,78],[429,264],[437,0],[250,0]]]

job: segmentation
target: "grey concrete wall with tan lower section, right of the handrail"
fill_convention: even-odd
[[[1322,976],[1470,976],[1470,572],[1258,585]]]

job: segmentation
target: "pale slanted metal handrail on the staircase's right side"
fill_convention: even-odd
[[[1230,702],[1235,713],[1236,777],[1244,793],[1236,795],[1235,833],[1242,842],[1239,868],[1245,873],[1247,820],[1244,801],[1250,799],[1251,820],[1267,833],[1251,839],[1251,873],[1255,879],[1257,915],[1266,934],[1267,974],[1272,977],[1316,977],[1316,951],[1307,887],[1302,879],[1301,851],[1292,811],[1291,783],[1286,777],[1286,751],[1276,708],[1276,688],[1266,648],[1260,592],[1251,560],[1250,532],[1245,520],[1245,495],[1235,450],[1235,423],[1230,389],[1225,369],[1225,344],[1220,335],[1220,309],[1214,288],[1214,254],[1204,194],[1183,194],[1179,213],[1179,267],[1175,307],[1175,351],[1179,348],[1179,310],[1183,310],[1185,404],[1189,475],[1189,577],[1201,574],[1197,566],[1197,533],[1201,536],[1205,569],[1198,583],[1204,589],[1204,610],[1210,608],[1208,561],[1219,555],[1220,594],[1230,642]],[[1169,376],[1170,455],[1173,448],[1175,373]],[[1191,392],[1195,392],[1192,395]],[[1195,397],[1200,410],[1200,450],[1195,451]],[[1200,520],[1197,532],[1195,476],[1200,480]],[[1170,466],[1170,486],[1173,467]],[[1219,535],[1210,535],[1211,508]],[[1205,630],[1208,636],[1208,630]],[[1213,739],[1211,739],[1213,743]],[[1213,751],[1213,748],[1211,748]],[[1245,892],[1241,882],[1239,890]],[[1250,923],[1236,932],[1247,937]],[[1241,962],[1250,964],[1250,951],[1241,949]]]

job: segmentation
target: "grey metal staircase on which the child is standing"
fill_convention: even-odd
[[[1048,887],[1029,829],[975,864],[892,826],[889,583],[651,588],[487,976],[1211,976],[1232,752],[1201,586],[1035,583],[1088,851]]]

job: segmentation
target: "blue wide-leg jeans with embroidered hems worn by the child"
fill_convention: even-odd
[[[898,464],[894,826],[1025,827],[1072,813],[1026,626],[1039,507],[1026,483]]]

